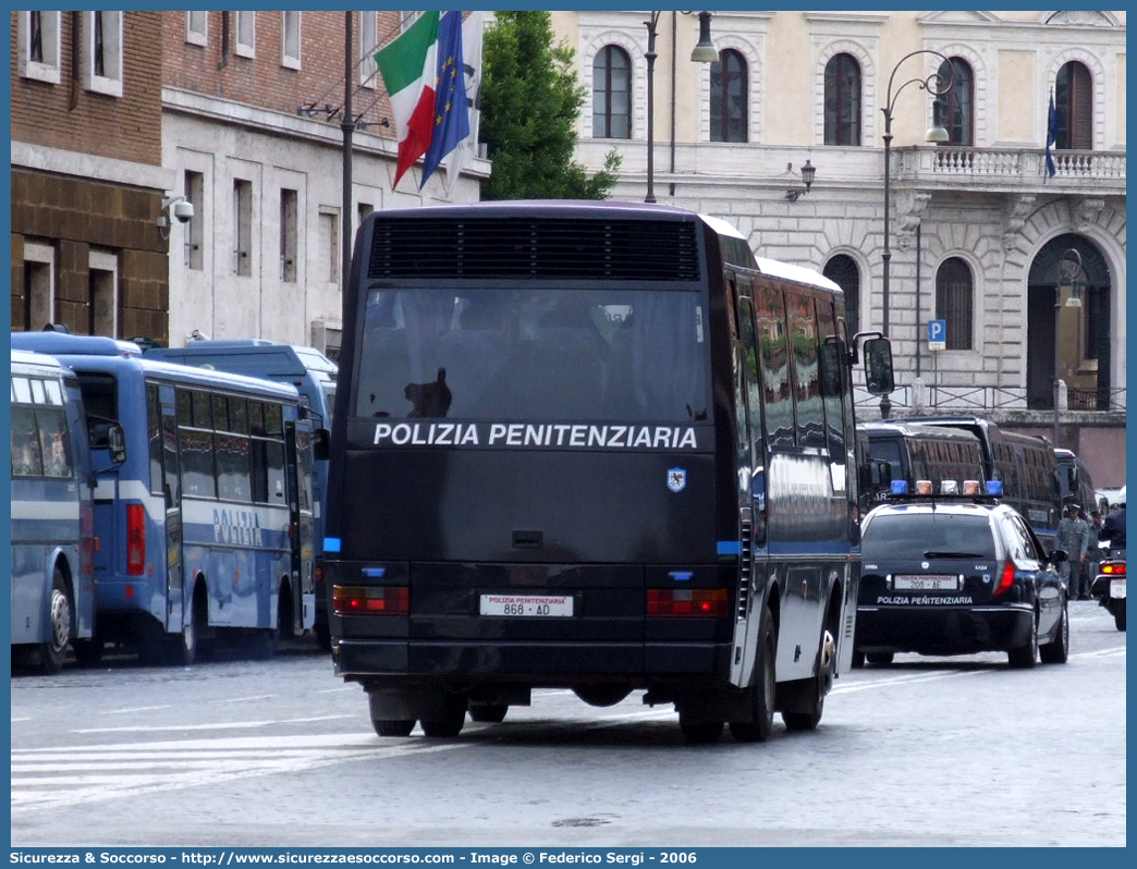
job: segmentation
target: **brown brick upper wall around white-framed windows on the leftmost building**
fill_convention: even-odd
[[[160,165],[163,13],[124,14],[121,98],[72,81],[72,34],[80,13],[60,14],[59,84],[20,78],[19,15],[10,14],[13,140]]]

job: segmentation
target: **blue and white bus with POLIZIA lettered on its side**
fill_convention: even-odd
[[[191,663],[214,640],[271,654],[312,628],[313,437],[296,388],[148,359],[109,338],[14,333],[13,345],[51,353],[82,390],[97,649]]]

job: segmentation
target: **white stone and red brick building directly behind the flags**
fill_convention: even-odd
[[[351,206],[343,214],[347,22]],[[373,209],[476,201],[485,160],[392,190],[397,142],[371,56],[398,11],[166,11],[163,165],[194,218],[171,237],[169,340],[266,338],[335,356],[343,223]]]

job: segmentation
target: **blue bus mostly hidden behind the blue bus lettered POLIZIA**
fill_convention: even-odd
[[[321,645],[329,646],[327,609],[322,587],[321,561],[324,544],[324,513],[327,493],[327,438],[335,403],[335,363],[313,347],[276,344],[262,339],[193,340],[185,347],[147,347],[148,358],[182,365],[211,365],[218,371],[291,383],[300,392],[304,414],[312,420],[315,436],[312,497],[315,512],[315,632]]]

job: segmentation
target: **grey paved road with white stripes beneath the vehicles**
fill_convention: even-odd
[[[308,646],[11,682],[11,844],[1126,844],[1126,635],[1071,604],[1064,665],[899,655],[812,734],[687,746],[671,707],[534,693],[456,739],[380,738]]]

